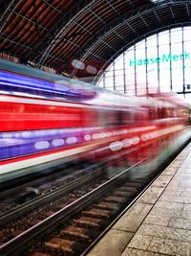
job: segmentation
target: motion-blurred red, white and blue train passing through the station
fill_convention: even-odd
[[[124,155],[131,165],[178,148],[188,123],[174,94],[130,98],[0,60],[0,182],[74,159]]]

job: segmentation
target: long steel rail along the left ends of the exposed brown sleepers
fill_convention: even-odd
[[[4,256],[19,255],[26,245],[32,245],[36,240],[39,241],[39,239],[42,238],[46,232],[52,232],[56,227],[58,227],[60,221],[63,222],[71,220],[71,218],[79,213],[83,208],[89,206],[97,198],[101,198],[105,193],[109,192],[121,181],[124,181],[124,178],[129,175],[130,170],[147,161],[152,155],[153,154],[138,161],[138,163],[130,168],[127,168],[121,174],[111,178],[85,196],[78,198],[71,204],[54,213],[51,217],[48,217],[44,221],[40,221],[17,237],[13,238],[11,241],[1,245],[0,254]]]

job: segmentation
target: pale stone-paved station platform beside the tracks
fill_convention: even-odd
[[[88,256],[191,255],[191,143]]]

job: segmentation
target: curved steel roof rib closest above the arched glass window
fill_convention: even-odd
[[[184,2],[182,1],[176,1],[172,3],[171,2],[168,2],[168,1],[165,1],[165,5],[163,4],[162,2],[162,8],[170,8],[171,5],[188,5],[190,4],[190,1],[188,0],[185,0]],[[129,24],[129,21],[135,19],[136,17],[140,17],[140,14],[147,14],[149,12],[157,12],[157,10],[160,8],[160,5],[155,5],[155,7],[151,4],[145,6],[144,8],[141,7],[141,11],[142,12],[139,12],[139,9],[136,10],[137,14],[134,12],[132,12],[131,14],[126,14],[125,16],[122,16],[122,19],[123,21],[121,22],[121,17],[118,18],[118,20],[115,20],[115,25],[116,26],[111,26],[111,24],[108,24],[106,27],[105,27],[105,30],[104,32],[102,33],[102,35],[97,35],[95,38],[94,38],[94,41],[92,40],[91,43],[89,43],[89,46],[87,48],[84,48],[84,54],[82,54],[80,60],[81,61],[84,61],[88,56],[89,56],[89,53],[93,53],[94,52],[94,49],[96,49],[96,47],[100,44],[101,41],[104,41],[105,38],[109,35],[109,34],[114,34],[115,31],[117,31],[117,29],[122,25],[122,24]],[[130,24],[129,24],[130,25]],[[170,25],[170,24],[169,24]],[[112,29],[111,29],[112,27]],[[135,30],[134,30],[135,31]],[[152,28],[151,28],[151,31],[152,31]],[[154,33],[156,32],[156,30],[154,30]],[[139,36],[138,36],[139,37]],[[91,45],[90,45],[91,44]],[[79,57],[78,57],[79,58]],[[74,76],[74,73],[75,73],[76,70],[74,70],[72,76]]]

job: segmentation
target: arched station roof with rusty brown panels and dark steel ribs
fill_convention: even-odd
[[[0,12],[1,53],[78,77],[144,36],[191,24],[190,0],[0,0]]]

